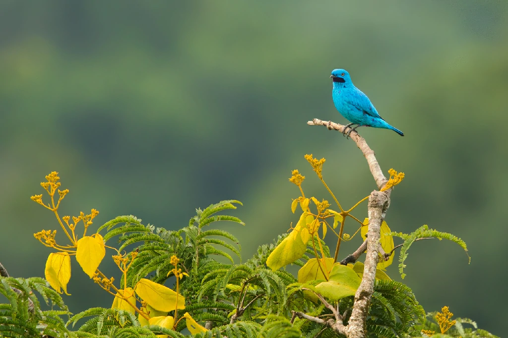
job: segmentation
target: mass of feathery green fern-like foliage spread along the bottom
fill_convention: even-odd
[[[203,230],[205,226],[220,220],[243,224],[233,216],[217,215],[218,212],[235,209],[233,203],[239,202],[221,201],[203,211],[197,209],[197,215],[190,219],[188,226],[177,231],[155,229],[149,224],[145,226],[134,216],[120,216],[101,226],[99,231],[106,230],[105,241],[119,236],[120,250],[136,252],[125,274],[126,279],[122,278],[121,284],[126,283],[127,287],[134,288],[146,276],[164,284],[168,272],[174,268],[171,257],[177,256],[180,258],[178,266],[188,273],[188,276],[182,275],[179,282],[179,292],[185,297],[185,309],[178,310],[177,314],[170,312],[169,315],[183,318],[188,313],[199,325],[209,328],[194,336],[338,337],[327,326],[293,316],[293,312],[302,312],[324,320],[333,317],[332,312],[314,295],[319,291],[323,291],[324,296],[329,295],[330,290],[322,290],[326,289],[325,281],[307,278],[304,283],[299,283],[284,268],[273,271],[266,265],[267,257],[288,238],[287,234],[278,236],[270,245],[260,246],[255,255],[242,263],[240,246],[233,234],[214,228]],[[446,238],[465,249],[465,244],[455,236],[426,226],[409,235],[393,235],[405,241],[402,246],[404,259],[409,246],[424,237]],[[314,236],[313,242],[312,239],[308,241],[305,254],[295,264],[304,265],[310,257],[316,257],[313,246],[319,244],[323,256],[333,262],[325,242],[319,236]],[[233,257],[238,259],[237,263]],[[311,268],[309,273],[312,274],[314,270],[317,272],[317,269]],[[345,275],[340,275],[342,273]],[[336,282],[335,287],[339,289],[348,280],[355,280],[358,284],[361,276],[358,277],[357,273],[349,266],[336,265],[328,283]],[[9,303],[0,305],[0,333],[3,336],[40,337],[41,334],[50,334],[55,337],[123,338],[165,334],[173,338],[184,337],[180,331],[186,327],[185,319],[178,321],[173,330],[157,325],[142,326],[137,315],[119,309],[91,308],[68,318],[65,323],[60,317],[69,317],[70,312],[60,295],[45,280],[2,278],[0,281],[0,292],[9,300]],[[14,291],[14,288],[18,291]],[[38,298],[32,290],[61,311],[41,311]],[[338,297],[340,299],[335,296],[328,298],[341,314],[345,314],[344,323],[352,313],[354,293],[352,290]],[[33,311],[29,310],[29,300],[33,303]],[[409,287],[389,279],[376,279],[366,321],[368,337],[419,336],[422,329],[439,332],[437,323],[432,321],[432,314],[429,316],[425,318],[422,306]],[[84,323],[78,327],[76,324],[79,321]],[[466,324],[472,325],[474,330],[464,327]],[[486,331],[476,329],[476,324],[466,319],[457,319],[447,334],[454,337],[462,335],[463,338],[495,338]]]

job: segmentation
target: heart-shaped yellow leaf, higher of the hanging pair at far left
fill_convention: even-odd
[[[77,245],[76,260],[85,274],[92,278],[104,255],[106,255],[104,240],[100,234],[94,233],[91,236],[84,236],[78,241]]]

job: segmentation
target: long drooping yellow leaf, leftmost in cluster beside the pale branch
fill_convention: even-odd
[[[307,212],[302,213],[293,231],[268,256],[266,265],[275,271],[301,258],[307,250],[307,243],[310,240],[306,224],[312,223],[313,220],[312,215],[308,215]]]

